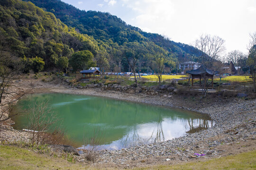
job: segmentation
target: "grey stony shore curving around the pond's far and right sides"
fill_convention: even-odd
[[[185,104],[188,100],[181,100],[174,95],[147,95],[144,93],[122,93],[115,90],[101,90],[101,88],[74,89],[62,85],[41,84],[34,88],[35,93],[72,93],[109,97],[130,102],[143,102],[153,105],[170,106],[185,110],[197,111],[209,115],[215,125],[206,130],[175,138],[173,140],[133,146],[121,150],[98,151],[99,158],[95,166],[102,164],[116,167],[135,167],[147,164],[170,164],[194,159],[219,157],[244,151],[245,148],[234,151],[234,146],[249,143],[249,150],[256,148],[256,100],[229,98],[218,99],[214,102],[196,101],[191,105]],[[16,130],[1,130],[0,139],[18,139],[13,136],[26,136],[15,133]],[[12,132],[12,133],[9,133]],[[23,132],[20,132],[23,133]],[[25,137],[24,137],[25,139]],[[252,143],[252,144],[251,144]],[[226,149],[221,149],[221,148]],[[84,162],[83,154],[77,157]]]

